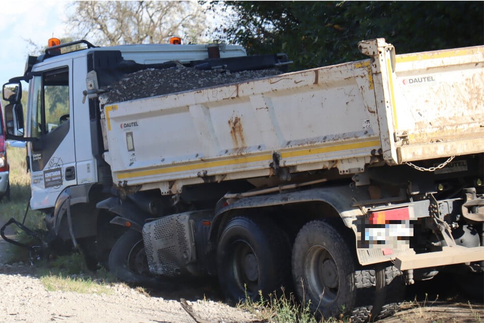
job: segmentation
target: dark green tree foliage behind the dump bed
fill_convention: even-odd
[[[212,3],[220,6],[229,19],[214,34],[248,53],[286,52],[295,70],[362,59],[364,39],[385,38],[397,53],[484,43],[484,2]]]

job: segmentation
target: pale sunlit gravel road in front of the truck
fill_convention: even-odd
[[[109,294],[48,291],[36,276],[34,266],[22,262],[6,263],[7,246],[8,243],[0,238],[2,322],[208,323],[258,320],[254,315],[222,302],[204,300],[203,287],[151,296],[124,284],[108,286]],[[186,303],[181,301],[182,297],[187,299]]]

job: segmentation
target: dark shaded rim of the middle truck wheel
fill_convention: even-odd
[[[259,261],[245,241],[236,241],[232,254],[232,272],[241,290],[252,295],[258,292]]]

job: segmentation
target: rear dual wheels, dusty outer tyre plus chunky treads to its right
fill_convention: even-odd
[[[403,289],[398,290],[403,281],[389,268],[360,268],[347,240],[326,221],[307,223],[294,242],[296,294],[324,318],[344,314],[363,322],[392,315],[403,299]]]

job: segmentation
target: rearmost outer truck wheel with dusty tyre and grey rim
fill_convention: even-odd
[[[311,221],[302,227],[294,242],[292,267],[296,294],[306,303],[303,306],[309,305],[324,318],[352,313],[357,294],[355,260],[346,240],[331,225]],[[364,320],[369,310],[353,315]]]

